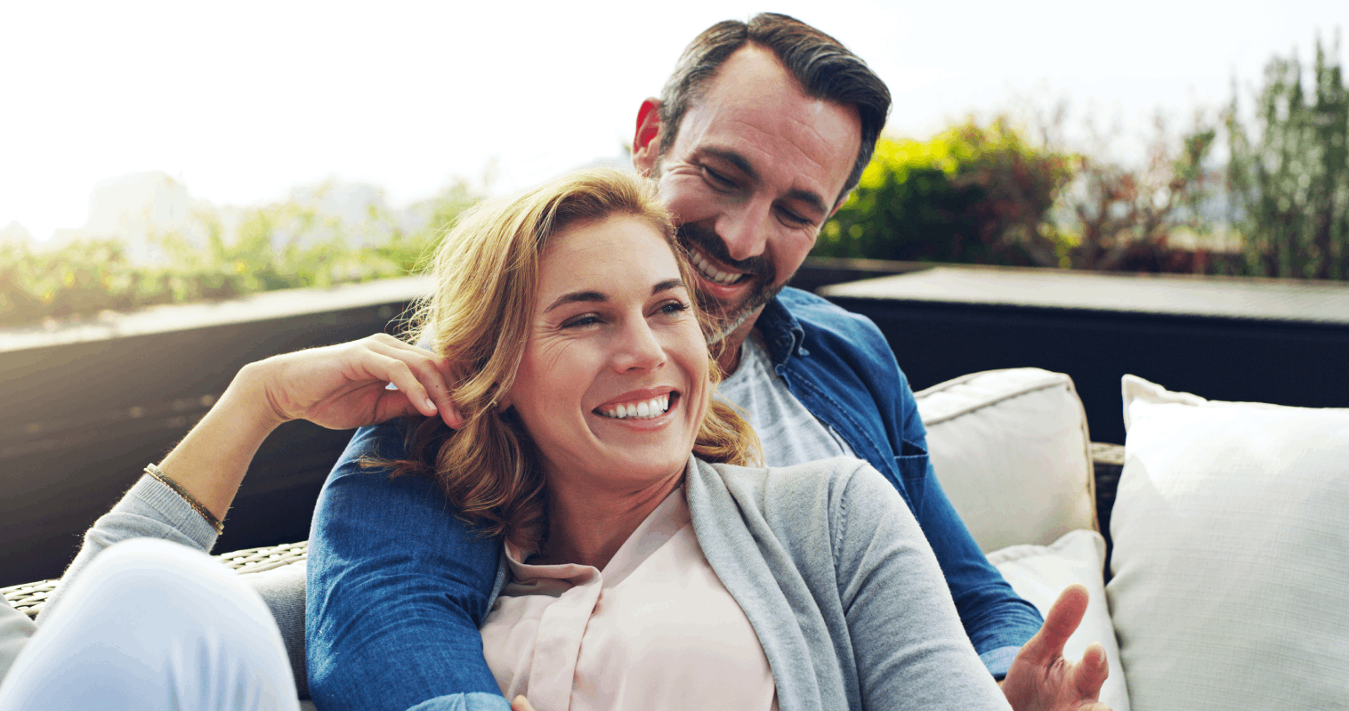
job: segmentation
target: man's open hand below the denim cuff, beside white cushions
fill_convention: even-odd
[[[1063,645],[1086,611],[1085,587],[1068,586],[1059,594],[1044,626],[1021,648],[1002,680],[1002,693],[1014,711],[1110,711],[1098,702],[1110,673],[1105,648],[1093,642],[1077,664],[1063,658]]]

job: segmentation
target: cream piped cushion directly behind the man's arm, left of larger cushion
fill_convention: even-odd
[[[994,370],[916,397],[936,478],[985,552],[1097,528],[1091,438],[1071,378]]]

